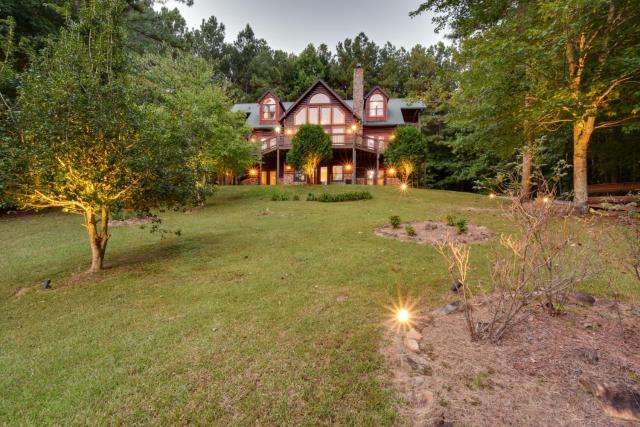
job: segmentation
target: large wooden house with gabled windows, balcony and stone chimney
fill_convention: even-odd
[[[251,171],[252,182],[263,185],[304,182],[299,171],[286,164],[293,136],[301,125],[321,125],[331,135],[333,158],[321,163],[316,179],[322,184],[385,184],[394,179],[384,168],[384,151],[401,125],[420,126],[424,104],[389,98],[376,86],[364,94],[364,71],[353,72],[353,100],[340,98],[318,80],[295,102],[283,102],[267,91],[257,103],[236,104],[233,111],[247,115],[251,141],[259,144],[262,162]]]

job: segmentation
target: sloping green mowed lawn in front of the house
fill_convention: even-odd
[[[455,214],[513,229],[480,195],[370,188],[331,204],[308,191],[222,188],[162,215],[180,237],[113,228],[108,269],[90,278],[80,217],[0,217],[0,424],[402,423],[378,350],[385,306],[399,293],[442,304],[450,280],[433,248],[374,228]],[[477,283],[491,244],[473,246]]]

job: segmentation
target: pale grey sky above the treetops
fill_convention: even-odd
[[[331,50],[345,38],[364,32],[382,46],[390,41],[410,49],[416,44],[430,46],[444,41],[436,34],[431,15],[410,18],[420,0],[194,0],[191,7],[169,0],[187,25],[199,27],[203,19],[215,15],[226,26],[226,38],[233,41],[250,24],[256,37],[274,49],[299,53],[309,43],[326,43]]]

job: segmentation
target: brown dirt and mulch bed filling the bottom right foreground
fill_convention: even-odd
[[[536,309],[499,345],[471,342],[460,312],[425,318],[417,353],[391,329],[383,349],[411,424],[637,425],[609,417],[583,384],[640,388],[638,308],[605,302],[557,317]]]

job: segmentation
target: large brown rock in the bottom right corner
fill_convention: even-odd
[[[623,384],[607,384],[581,378],[580,383],[600,399],[605,414],[627,421],[640,421],[640,393]]]

